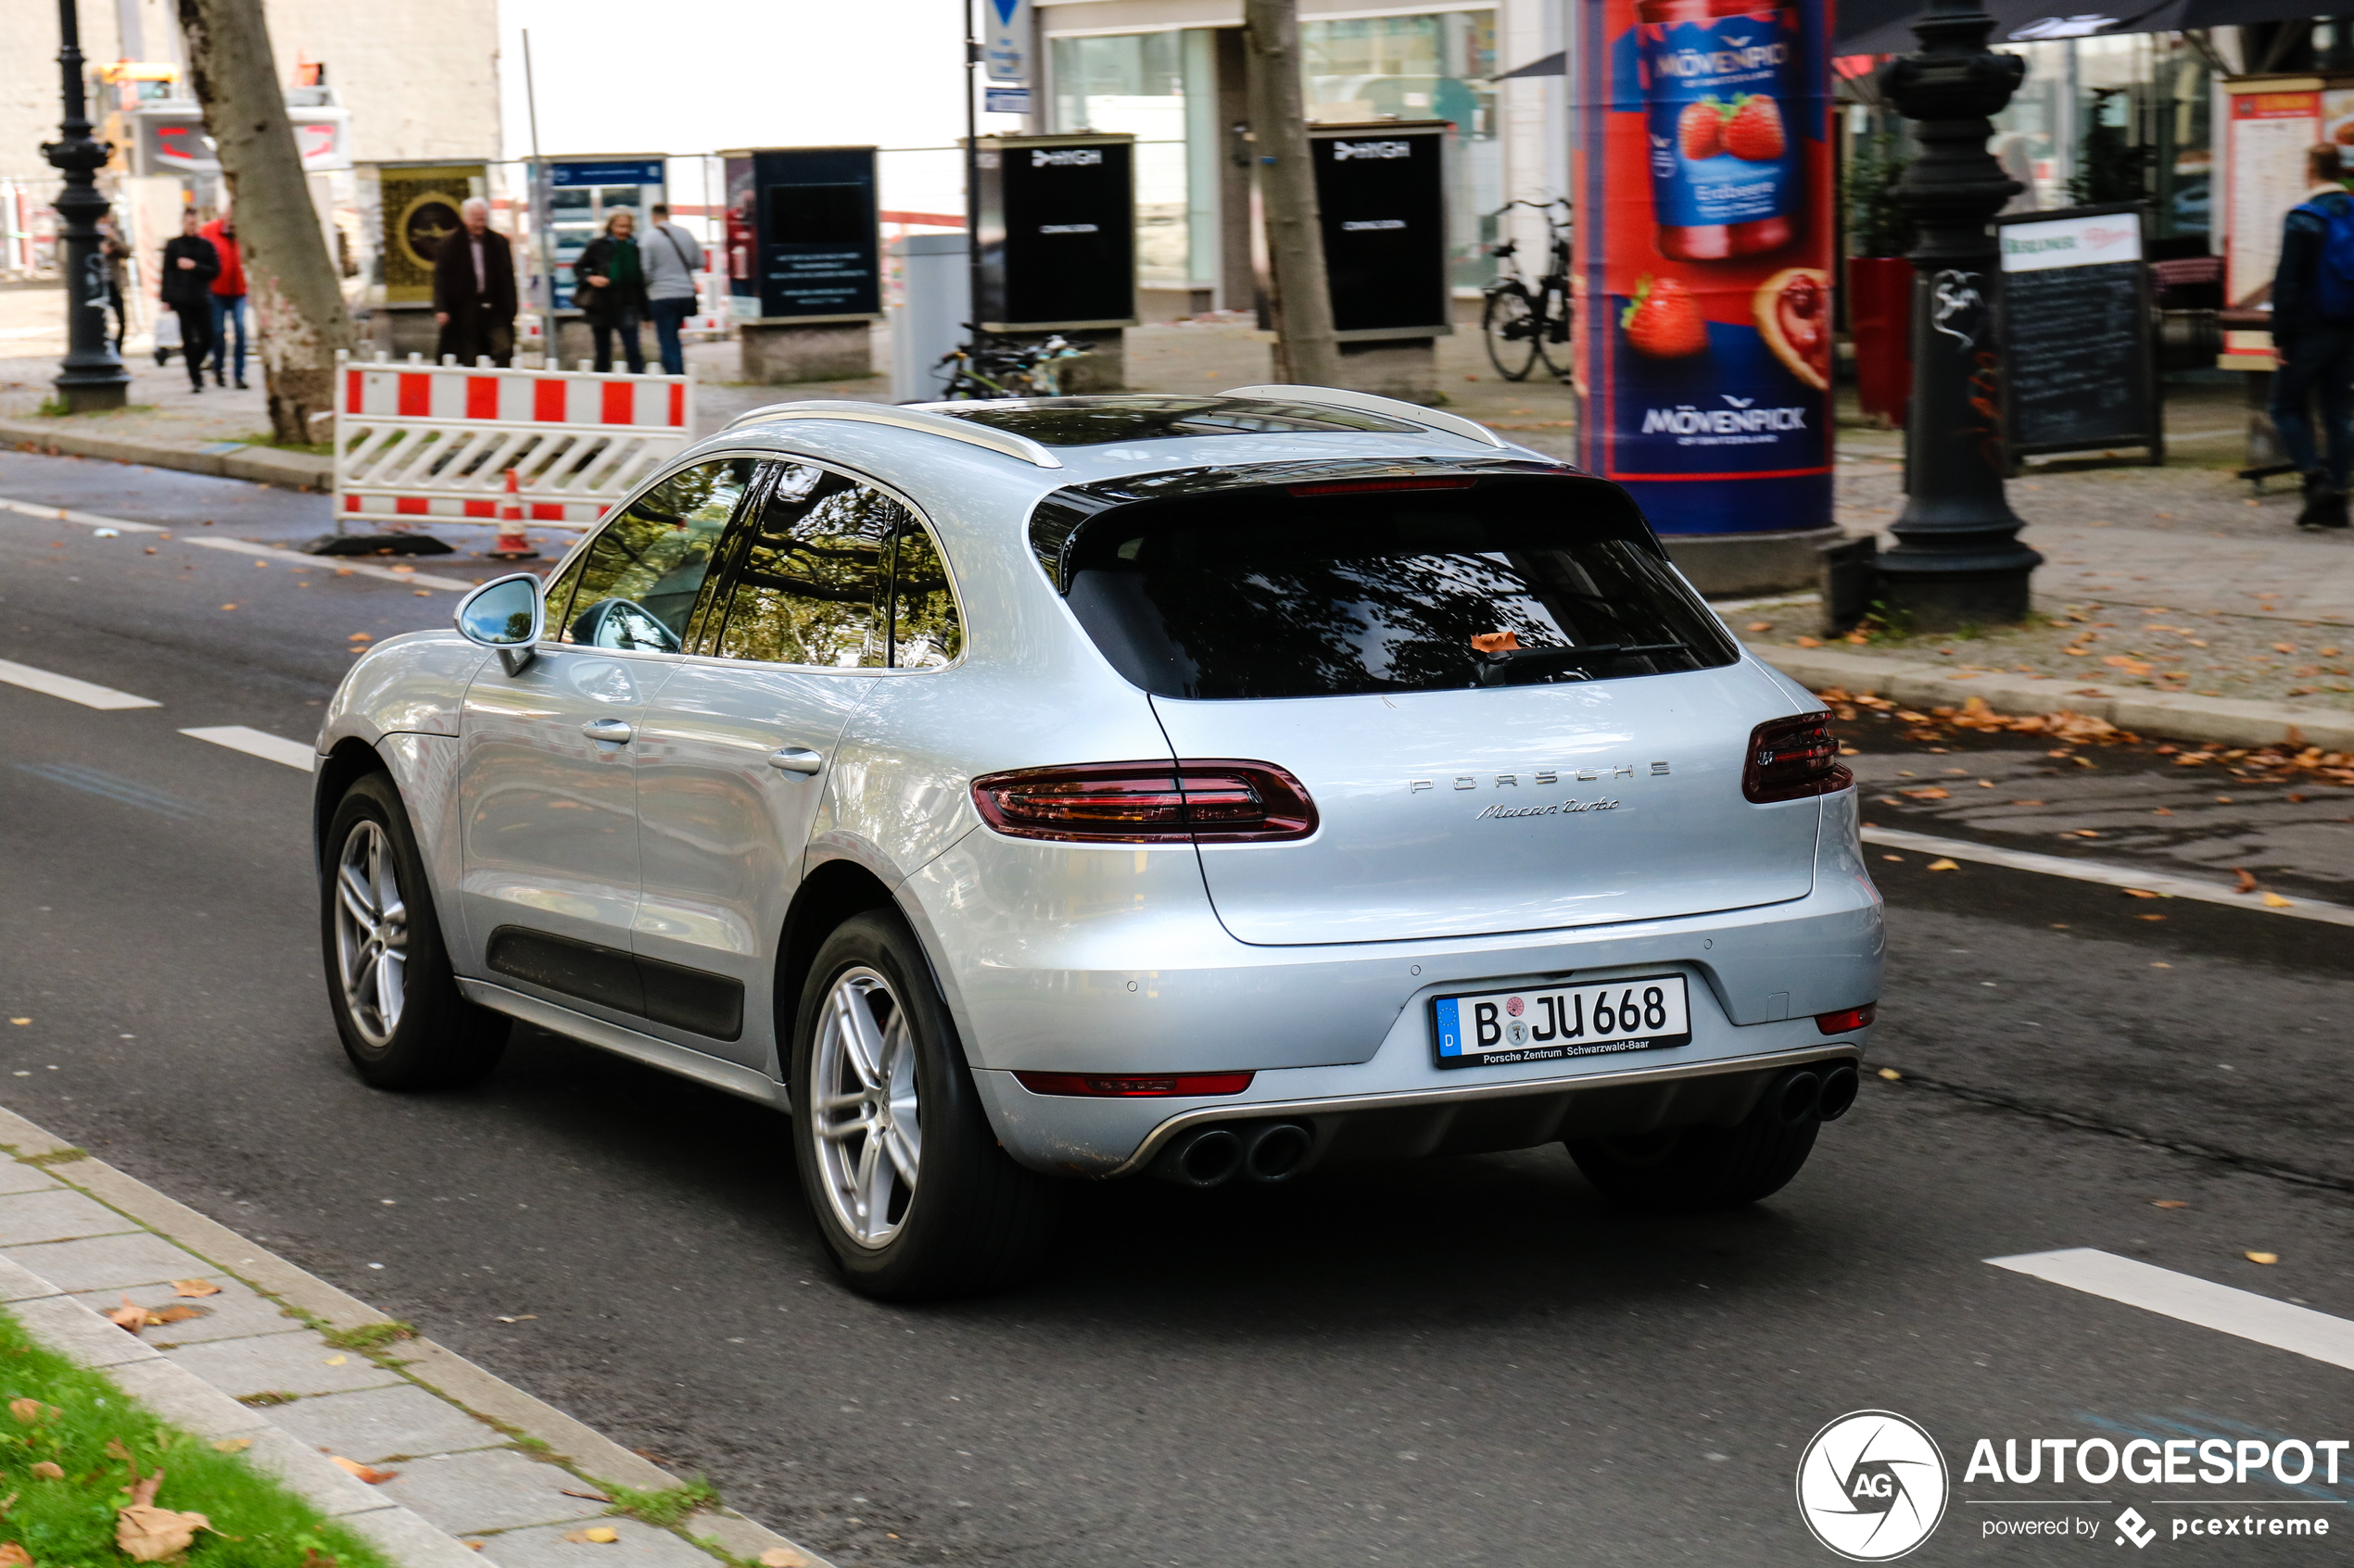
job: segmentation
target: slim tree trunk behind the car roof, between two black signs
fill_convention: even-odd
[[[181,0],[184,5],[188,0]],[[1323,270],[1323,219],[1299,99],[1299,0],[1243,0],[1250,153],[1266,221],[1276,381],[1339,386],[1332,294]]]

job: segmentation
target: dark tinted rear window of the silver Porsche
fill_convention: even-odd
[[[1617,487],[1412,484],[1097,512],[1064,555],[1071,609],[1137,686],[1210,701],[1617,679],[1740,658]]]

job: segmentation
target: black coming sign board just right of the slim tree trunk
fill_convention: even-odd
[[[1332,336],[1455,331],[1448,280],[1445,120],[1311,125]]]

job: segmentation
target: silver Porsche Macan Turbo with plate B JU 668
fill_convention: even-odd
[[[774,1105],[887,1298],[1019,1274],[1057,1178],[1747,1204],[1878,997],[1820,703],[1620,487],[1358,393],[746,414],[318,752],[370,1084],[520,1018]]]

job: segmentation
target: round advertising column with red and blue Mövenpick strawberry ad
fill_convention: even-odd
[[[1836,538],[1824,12],[1577,7],[1580,461],[1704,592],[1808,583]]]

